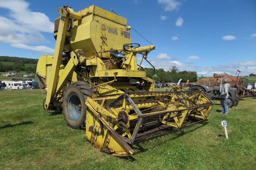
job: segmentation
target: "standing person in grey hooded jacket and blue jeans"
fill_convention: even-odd
[[[222,86],[221,88],[221,105],[222,105],[222,112],[220,113],[225,113],[228,114],[228,103],[227,103],[227,98],[228,98],[228,90],[230,88],[230,84],[228,84],[228,81],[226,78],[223,79],[223,84],[224,86]]]

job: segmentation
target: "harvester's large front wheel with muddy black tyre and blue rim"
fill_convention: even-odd
[[[69,127],[82,129],[85,126],[85,99],[92,97],[92,92],[90,85],[83,81],[71,83],[64,91],[61,107],[64,120]]]

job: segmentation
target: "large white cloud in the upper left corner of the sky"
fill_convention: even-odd
[[[24,0],[0,0],[0,8],[8,10],[8,18],[0,16],[0,42],[38,44],[45,42],[41,32],[53,32],[54,23],[44,13],[29,9]]]

